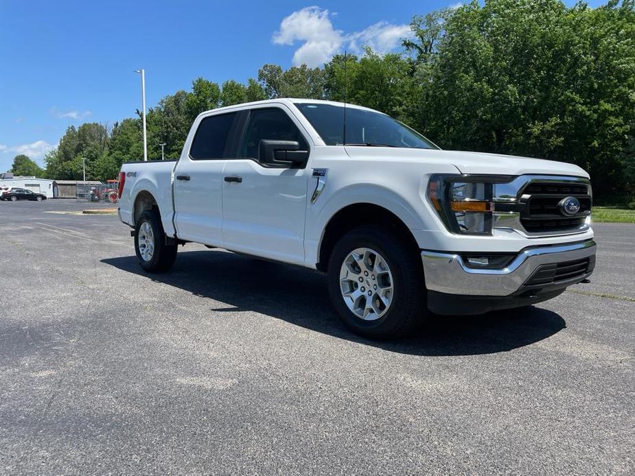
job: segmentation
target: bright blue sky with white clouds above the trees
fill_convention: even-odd
[[[0,0],[0,171],[19,153],[43,165],[68,126],[132,117],[135,69],[150,107],[198,76],[246,81],[265,63],[399,49],[414,14],[456,3]]]

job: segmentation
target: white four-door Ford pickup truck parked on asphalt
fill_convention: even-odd
[[[170,269],[187,242],[319,270],[343,322],[367,337],[404,336],[429,311],[541,302],[595,262],[583,169],[440,150],[337,102],[203,112],[178,160],[124,163],[119,179],[144,270]]]

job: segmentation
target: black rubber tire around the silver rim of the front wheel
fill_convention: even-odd
[[[356,248],[380,253],[393,276],[393,298],[384,315],[363,320],[345,304],[340,289],[340,269]],[[344,324],[355,333],[376,340],[395,340],[413,335],[427,313],[424,272],[418,250],[390,230],[356,228],[340,238],[328,264],[328,289],[331,302]]]

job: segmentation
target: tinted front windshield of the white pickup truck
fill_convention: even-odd
[[[422,134],[390,116],[371,110],[346,108],[346,141],[344,108],[332,104],[295,103],[326,145],[367,145],[369,147],[408,147],[438,149]]]

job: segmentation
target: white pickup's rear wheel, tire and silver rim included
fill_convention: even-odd
[[[139,265],[146,271],[168,271],[174,265],[176,244],[165,243],[165,232],[158,211],[141,213],[135,228],[135,252]]]

